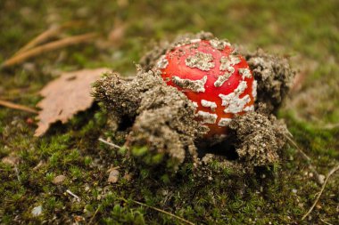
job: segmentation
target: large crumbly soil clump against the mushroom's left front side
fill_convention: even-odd
[[[194,120],[194,104],[186,95],[165,84],[161,76],[140,67],[131,81],[107,74],[96,82],[94,95],[117,123],[125,117],[134,120],[128,147],[146,146],[154,154],[170,157],[175,167],[186,158],[197,161],[194,141],[208,128]]]

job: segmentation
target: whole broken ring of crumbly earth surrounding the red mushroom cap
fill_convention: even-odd
[[[109,112],[112,132],[126,139],[127,149],[146,149],[147,163],[166,163],[174,171],[184,162],[203,166],[211,158],[246,171],[278,163],[288,131],[275,113],[293,84],[288,60],[238,46],[258,83],[254,111],[233,117],[222,139],[206,140],[209,128],[196,120],[193,102],[167,85],[156,67],[162,55],[192,39],[210,41],[216,48],[225,43],[205,32],[178,36],[147,52],[133,78],[112,72],[95,83],[95,98]]]

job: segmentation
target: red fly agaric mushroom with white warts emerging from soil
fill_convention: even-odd
[[[191,39],[162,55],[155,69],[193,101],[206,137],[227,133],[235,115],[254,110],[257,83],[246,60],[227,41]]]

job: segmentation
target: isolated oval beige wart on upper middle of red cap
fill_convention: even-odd
[[[186,66],[190,68],[199,68],[203,71],[209,71],[214,68],[213,56],[210,53],[196,52],[185,60]]]

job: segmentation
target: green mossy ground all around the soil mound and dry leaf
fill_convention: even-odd
[[[123,0],[1,1],[0,60],[9,58],[52,23],[83,20],[86,26],[73,28],[69,34],[95,30],[104,36],[117,20],[128,25],[119,47],[82,44],[44,53],[29,63],[0,71],[1,98],[33,107],[40,99],[37,92],[60,70],[105,66],[133,75],[133,62],[148,50],[152,40],[203,29],[232,43],[246,44],[250,49],[260,46],[268,52],[292,57],[294,68],[306,74],[302,90],[295,92],[294,98],[312,89],[322,90],[322,84],[328,84],[325,92],[312,95],[321,100],[310,99],[294,108],[288,108],[287,101],[279,117],[285,118],[294,140],[312,158],[318,173],[326,174],[338,164],[337,1],[126,3]],[[305,114],[304,108],[312,110]],[[296,149],[286,149],[280,165],[260,171],[257,176],[238,176],[215,161],[205,172],[212,173],[209,181],[199,179],[203,172],[192,172],[190,164],[181,167],[175,176],[154,174],[155,170],[147,167],[134,169],[135,162],[126,160],[122,152],[97,141],[100,135],[110,133],[104,129],[104,112],[96,106],[74,117],[68,125],[54,125],[43,138],[32,138],[36,127],[28,119],[33,117],[26,112],[0,108],[0,157],[15,154],[20,158],[16,169],[0,163],[1,223],[180,223],[136,205],[131,199],[194,223],[321,224],[325,221],[336,224],[339,221],[338,173],[328,182],[310,217],[300,221],[320,188],[310,178],[308,165]],[[121,178],[116,184],[107,182],[107,170],[112,166],[120,166]],[[61,185],[54,185],[54,177],[60,174],[67,179]],[[131,179],[123,178],[125,174]],[[81,200],[66,194],[67,189]],[[31,211],[38,205],[42,205],[42,214],[34,217]]]

